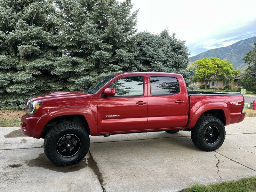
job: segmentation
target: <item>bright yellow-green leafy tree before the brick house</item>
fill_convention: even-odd
[[[205,89],[209,81],[233,82],[234,75],[237,76],[240,72],[239,70],[234,70],[230,62],[215,57],[196,60],[192,64],[193,67],[196,69],[195,80],[205,82]]]

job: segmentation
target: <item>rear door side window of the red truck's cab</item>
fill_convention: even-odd
[[[171,95],[180,92],[178,80],[174,77],[150,77],[151,95]]]

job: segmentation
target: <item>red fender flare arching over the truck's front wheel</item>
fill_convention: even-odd
[[[84,106],[55,108],[45,113],[36,123],[33,137],[40,138],[44,126],[53,118],[68,115],[82,115],[87,121],[91,135],[98,135],[98,126],[92,110]]]

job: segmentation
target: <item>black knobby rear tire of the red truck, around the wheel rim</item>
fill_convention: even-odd
[[[217,128],[217,131],[219,132],[218,139],[216,137],[215,142],[212,140],[214,142],[212,144],[207,143],[207,139],[205,140],[206,129],[211,126]],[[215,151],[220,148],[224,142],[225,135],[226,131],[224,124],[220,121],[220,119],[213,116],[204,116],[199,118],[195,127],[191,131],[191,139],[194,145],[203,151]]]

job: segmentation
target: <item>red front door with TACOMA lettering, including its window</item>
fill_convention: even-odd
[[[147,76],[120,78],[108,87],[114,87],[116,95],[99,95],[99,132],[131,132],[147,130],[148,94]]]

